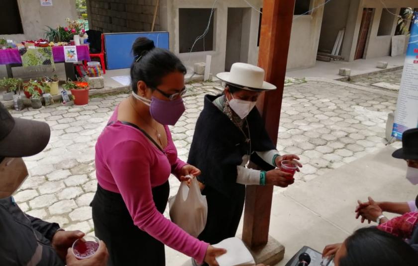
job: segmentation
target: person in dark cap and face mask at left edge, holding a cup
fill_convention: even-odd
[[[79,261],[70,248],[83,232],[64,231],[57,223],[25,214],[11,196],[28,176],[22,157],[41,152],[49,137],[47,123],[13,119],[0,103],[0,265],[104,266],[103,242],[95,256]]]

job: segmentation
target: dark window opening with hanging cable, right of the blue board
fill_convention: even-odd
[[[193,43],[208,26],[210,8],[179,8],[179,52],[189,53]],[[213,23],[215,11],[210,18],[208,33],[198,40],[192,52],[213,50]]]

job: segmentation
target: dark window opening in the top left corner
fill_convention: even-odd
[[[23,34],[17,0],[1,1],[0,34]]]

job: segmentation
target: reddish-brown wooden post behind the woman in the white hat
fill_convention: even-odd
[[[258,65],[266,71],[266,81],[277,89],[261,95],[257,107],[275,144],[294,8],[295,0],[264,0],[263,5]],[[247,186],[242,240],[252,249],[268,242],[272,196],[273,186]]]

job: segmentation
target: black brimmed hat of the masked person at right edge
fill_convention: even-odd
[[[402,148],[393,157],[404,160],[418,160],[418,128],[411,128],[402,134]]]

